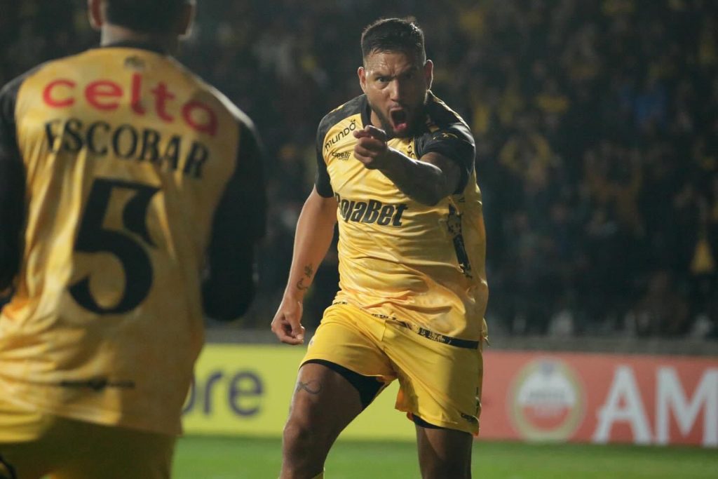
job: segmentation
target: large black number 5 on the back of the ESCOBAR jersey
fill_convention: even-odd
[[[126,231],[103,227],[114,189],[134,191],[134,195],[122,210],[122,225]],[[155,246],[147,231],[146,216],[149,202],[158,191],[159,188],[118,180],[98,179],[93,183],[78,239],[75,241],[75,251],[114,255],[122,264],[125,288],[117,304],[111,307],[101,306],[90,292],[88,274],[70,287],[70,294],[85,310],[98,315],[121,314],[134,310],[149,294],[152,264],[140,241],[148,246]]]

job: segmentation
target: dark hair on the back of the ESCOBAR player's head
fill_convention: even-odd
[[[136,32],[167,33],[190,0],[106,0],[107,22]]]

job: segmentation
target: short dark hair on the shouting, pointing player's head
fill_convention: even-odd
[[[363,59],[373,52],[403,52],[416,55],[424,63],[424,31],[413,19],[378,19],[362,32],[361,52]]]

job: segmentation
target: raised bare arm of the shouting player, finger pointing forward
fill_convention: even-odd
[[[386,135],[374,126],[354,134],[358,143],[357,159],[369,169],[378,169],[411,199],[423,205],[436,205],[452,195],[461,180],[455,162],[437,152],[429,152],[421,161],[411,159],[386,145]]]

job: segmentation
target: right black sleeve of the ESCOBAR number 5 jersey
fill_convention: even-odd
[[[240,129],[237,167],[215,211],[202,284],[205,313],[216,320],[236,319],[251,303],[254,247],[266,229],[264,149],[252,126]]]

